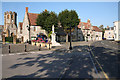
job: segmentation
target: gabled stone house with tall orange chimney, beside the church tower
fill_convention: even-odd
[[[39,14],[29,13],[28,7],[26,7],[25,16],[23,22],[19,22],[18,25],[18,39],[21,42],[27,42],[31,40],[31,37],[37,37],[37,34],[43,33],[47,36],[47,32],[42,29],[41,26],[37,26],[36,19]],[[29,32],[30,27],[30,32]]]

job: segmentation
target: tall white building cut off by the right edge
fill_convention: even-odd
[[[114,22],[114,40],[120,41],[120,21]]]

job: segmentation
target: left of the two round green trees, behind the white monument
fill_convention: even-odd
[[[55,12],[49,12],[47,10],[41,12],[36,19],[36,24],[42,26],[48,33],[52,31],[52,25],[57,26],[58,18]]]

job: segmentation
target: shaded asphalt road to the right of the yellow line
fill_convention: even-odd
[[[105,72],[108,78],[120,78],[119,45],[114,41],[98,41],[91,44],[92,57],[97,70]],[[101,68],[100,68],[101,67]]]

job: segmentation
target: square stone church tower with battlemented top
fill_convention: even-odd
[[[4,13],[4,29],[5,37],[17,35],[17,13]]]

